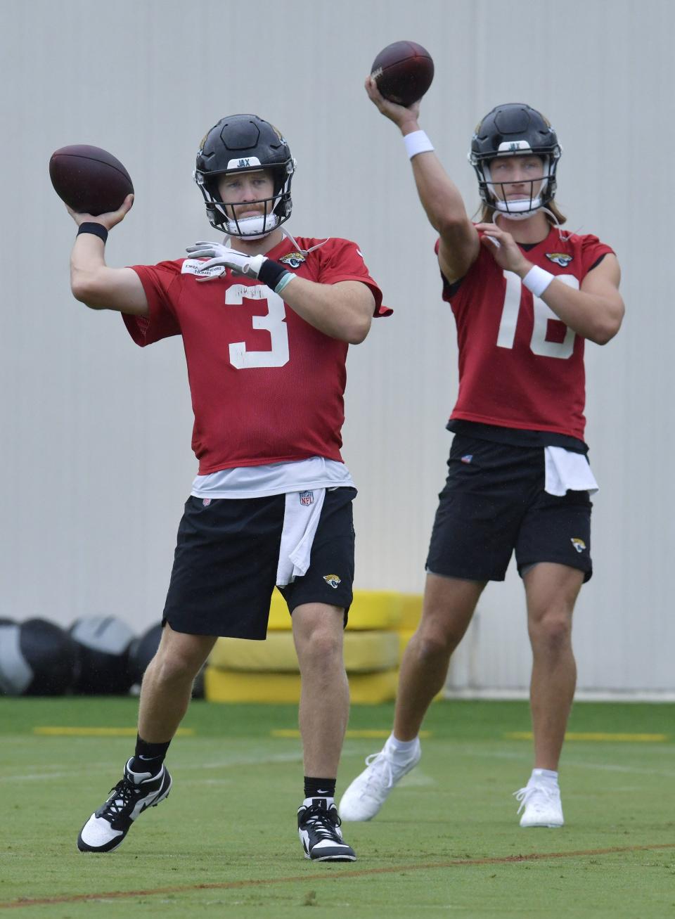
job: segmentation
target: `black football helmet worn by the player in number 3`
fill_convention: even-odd
[[[290,183],[296,161],[281,133],[257,115],[229,115],[219,120],[199,145],[194,177],[216,230],[246,239],[261,239],[290,217]],[[219,176],[253,169],[271,169],[274,197],[261,199],[264,214],[237,220],[219,195]]]

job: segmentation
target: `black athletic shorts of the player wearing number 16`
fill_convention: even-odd
[[[426,569],[469,581],[503,581],[515,550],[518,572],[537,562],[591,578],[591,499],[544,491],[544,448],[457,434]]]

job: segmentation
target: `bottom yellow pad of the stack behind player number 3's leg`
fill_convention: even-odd
[[[354,705],[377,705],[396,697],[398,672],[352,674],[349,691]],[[209,702],[298,702],[299,674],[242,674],[208,666],[204,692]]]

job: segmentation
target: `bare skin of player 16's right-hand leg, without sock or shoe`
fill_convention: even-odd
[[[557,770],[565,739],[577,685],[572,613],[583,577],[583,572],[567,565],[540,562],[523,578],[533,652],[534,767],[539,769]]]

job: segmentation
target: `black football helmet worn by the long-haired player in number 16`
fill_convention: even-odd
[[[510,102],[493,108],[478,124],[471,139],[468,160],[476,170],[481,199],[505,217],[523,220],[553,200],[557,185],[557,161],[561,153],[562,147],[557,142],[556,131],[541,112],[523,103]],[[539,191],[534,195],[534,184],[538,180],[528,180],[529,198],[515,201],[506,200],[503,195],[500,198],[495,194],[495,185],[500,183],[492,181],[490,162],[498,156],[524,154],[534,154],[543,160],[544,175]]]

